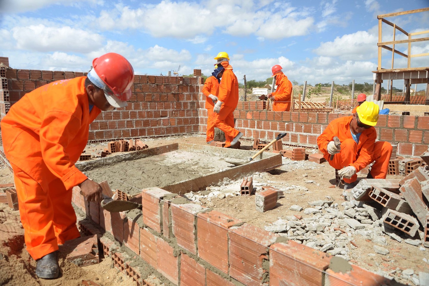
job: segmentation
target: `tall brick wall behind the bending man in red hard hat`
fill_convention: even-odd
[[[3,59],[3,60],[2,60]],[[9,65],[8,58],[0,62]],[[45,71],[0,67],[0,113],[25,93],[61,79],[85,76],[85,72]],[[199,78],[136,75],[133,95],[125,108],[103,111],[90,125],[90,141],[198,132]]]

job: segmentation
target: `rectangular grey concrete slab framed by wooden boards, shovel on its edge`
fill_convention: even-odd
[[[187,154],[185,154],[186,156],[184,156],[183,158],[169,156],[174,151],[182,152],[182,153],[187,152]],[[127,182],[125,182],[125,184],[121,186],[123,187],[124,190],[129,190],[130,187],[134,187],[137,190],[133,191],[133,193],[137,193],[138,190],[145,187],[160,187],[172,193],[184,194],[190,191],[196,192],[199,190],[205,190],[205,187],[207,186],[221,183],[222,181],[224,181],[224,178],[236,180],[238,178],[244,178],[245,176],[252,175],[254,172],[266,172],[281,166],[282,164],[281,155],[273,154],[269,152],[263,152],[250,163],[247,163],[241,166],[231,166],[231,164],[225,162],[225,160],[237,161],[237,162],[244,161],[252,157],[256,152],[257,151],[248,151],[248,150],[239,150],[239,149],[230,149],[230,148],[216,148],[211,146],[195,145],[195,144],[187,144],[187,143],[174,143],[174,144],[163,145],[155,148],[148,148],[141,151],[135,151],[132,153],[109,156],[109,157],[101,158],[99,160],[94,160],[94,161],[78,162],[76,163],[76,167],[78,167],[83,172],[89,173],[90,178],[98,181],[104,181],[106,179],[114,180],[115,178],[113,177],[118,177],[118,176],[115,175],[115,176],[110,176],[109,178],[106,178],[106,177],[94,178],[94,177],[91,177],[91,172],[93,172],[96,169],[103,169],[103,170],[106,169],[107,171],[109,169],[109,166],[112,167],[112,165],[115,165],[115,164],[120,164],[120,163],[130,164],[130,161],[136,161],[143,158],[149,158],[149,159],[154,158],[153,162],[151,162],[152,165],[168,164],[167,167],[169,166],[172,167],[171,170],[169,171],[172,172],[173,169],[176,169],[178,173],[184,173],[184,172],[187,172],[187,170],[184,169],[184,166],[186,165],[186,161],[193,160],[193,162],[196,162],[199,164],[198,171],[201,173],[201,175],[195,175],[194,178],[187,179],[184,181],[172,181],[167,185],[162,185],[162,186],[148,185],[149,183],[153,183],[153,180],[150,180],[150,179],[148,179],[149,183],[144,184],[142,186],[130,186],[130,185],[127,186]],[[163,158],[161,159],[158,158],[157,160],[155,160],[155,157],[157,155],[161,155]],[[168,157],[168,162],[166,163],[165,158],[167,157]],[[201,159],[202,157],[204,157],[204,159]],[[196,165],[196,163],[194,163],[193,165]],[[175,166],[175,165],[178,165],[178,166]],[[124,173],[127,171],[126,166],[127,165],[125,165],[123,169]],[[193,167],[196,168],[196,166],[193,166]],[[142,172],[139,174],[139,180],[142,177],[142,173],[144,173],[146,176],[151,175],[149,172],[151,172],[152,170],[147,170],[148,172],[145,172],[145,171],[146,170],[142,170]],[[169,176],[171,177],[171,174],[169,174]],[[125,181],[128,181],[127,180],[128,178],[129,176],[128,177],[124,176]],[[118,188],[117,186],[112,185],[110,181],[109,181],[109,184],[114,188]]]

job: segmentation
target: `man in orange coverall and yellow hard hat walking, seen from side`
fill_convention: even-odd
[[[236,145],[243,136],[234,128],[234,110],[239,102],[239,82],[230,65],[229,57],[226,52],[220,52],[215,60],[217,64],[224,67],[221,85],[219,86],[218,101],[213,108],[215,112],[215,126],[225,133],[225,148]]]

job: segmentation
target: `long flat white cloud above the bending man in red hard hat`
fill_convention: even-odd
[[[18,49],[29,51],[66,51],[87,53],[103,44],[103,37],[71,27],[46,27],[43,24],[15,27],[12,35]]]

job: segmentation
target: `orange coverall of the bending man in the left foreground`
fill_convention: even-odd
[[[24,95],[1,120],[4,152],[12,165],[25,244],[33,259],[80,237],[72,188],[87,179],[74,163],[88,142],[85,78],[45,84]]]

